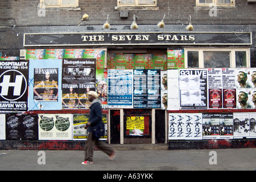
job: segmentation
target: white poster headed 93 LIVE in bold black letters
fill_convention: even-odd
[[[207,69],[179,69],[181,109],[207,109]]]

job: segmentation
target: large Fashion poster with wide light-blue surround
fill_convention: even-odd
[[[30,60],[29,110],[61,110],[61,60]]]

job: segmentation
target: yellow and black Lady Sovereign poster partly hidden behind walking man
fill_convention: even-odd
[[[73,114],[73,140],[86,140],[88,137],[87,130],[84,129],[89,121],[89,114]],[[100,140],[107,139],[107,114],[102,114],[102,122],[105,127],[105,134]]]

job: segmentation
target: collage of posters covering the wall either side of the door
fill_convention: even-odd
[[[166,56],[107,55],[106,50],[99,49],[29,49],[25,59],[0,61],[2,113],[89,109],[86,95],[89,90],[98,92],[102,109],[230,110],[256,106],[256,70],[184,69],[182,50],[169,50]],[[169,114],[169,139],[255,138],[254,115]],[[29,134],[24,128],[22,131],[10,129],[5,131],[12,133],[7,138],[22,133],[17,138],[23,139],[24,132],[35,138],[38,135],[39,139],[85,138],[85,131],[81,129],[86,116],[38,114],[37,117],[39,122],[41,118],[49,122],[42,122],[45,127],[38,127],[38,133]],[[61,125],[55,125],[58,117],[72,118],[69,122],[70,126],[74,125],[73,129],[63,131]],[[66,120],[60,120],[64,126]],[[17,125],[15,118],[7,115],[5,121],[10,123],[8,127]],[[51,132],[45,131],[46,126],[52,127]],[[3,129],[1,135],[4,135]],[[28,135],[25,138],[29,138]]]

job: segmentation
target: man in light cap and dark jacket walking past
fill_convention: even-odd
[[[98,139],[93,138],[93,127],[102,125],[102,110],[101,110],[101,101],[99,101],[97,92],[90,91],[87,93],[87,100],[91,102],[90,105],[90,114],[89,122],[87,122],[85,129],[87,129],[87,140],[85,143],[85,161],[81,164],[93,164],[93,152],[94,146],[97,146],[99,150],[105,152],[109,155],[109,159],[113,160],[115,158],[116,151],[108,146],[106,143],[101,142]]]

